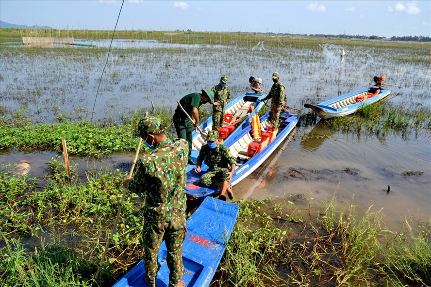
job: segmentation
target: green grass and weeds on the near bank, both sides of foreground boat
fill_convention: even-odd
[[[0,173],[1,285],[112,285],[142,256],[144,203],[127,194],[102,275],[93,282],[126,174],[93,170],[80,179],[72,169],[67,180],[62,162],[49,165],[43,179]],[[353,203],[332,199],[305,215],[296,203],[307,201],[311,206],[303,195],[235,201],[240,213],[212,286],[430,285],[431,222],[412,231],[405,221],[394,233],[379,212],[361,217]],[[34,245],[25,245],[29,238]]]

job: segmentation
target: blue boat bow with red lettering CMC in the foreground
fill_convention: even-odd
[[[212,197],[205,198],[198,209],[187,219],[187,234],[182,246],[185,274],[182,280],[186,287],[208,287],[225,251],[226,243],[238,215],[239,207]],[[166,245],[159,251],[160,270],[157,272],[157,287],[169,283],[166,265]],[[145,267],[141,260],[113,287],[147,287],[144,282]]]

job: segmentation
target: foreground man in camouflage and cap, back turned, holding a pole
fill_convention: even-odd
[[[140,136],[151,149],[138,161],[134,177],[125,178],[124,185],[130,191],[142,193],[144,207],[144,264],[147,275],[144,280],[150,287],[156,286],[156,273],[160,268],[157,254],[165,240],[169,287],[183,287],[182,243],[185,229],[185,183],[188,145],[183,139],[169,140],[165,127],[158,118],[147,116],[139,121]]]

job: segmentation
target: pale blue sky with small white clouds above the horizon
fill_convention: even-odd
[[[113,30],[122,0],[0,0],[0,20]],[[431,1],[125,0],[117,30],[431,36]]]

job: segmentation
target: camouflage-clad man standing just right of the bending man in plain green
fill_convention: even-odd
[[[223,125],[226,104],[231,100],[231,90],[226,85],[228,80],[228,76],[222,76],[220,83],[211,89],[214,92],[213,130],[218,131],[218,128]]]

